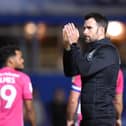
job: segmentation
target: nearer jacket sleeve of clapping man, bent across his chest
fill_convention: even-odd
[[[84,57],[76,44],[72,44],[71,55],[81,76],[93,75],[112,64],[119,65],[119,56],[116,49],[112,46],[99,48],[92,59],[88,60],[88,55]]]

